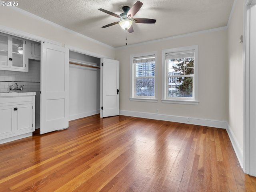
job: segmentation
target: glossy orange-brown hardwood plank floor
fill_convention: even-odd
[[[224,129],[128,116],[0,145],[0,192],[254,192]]]

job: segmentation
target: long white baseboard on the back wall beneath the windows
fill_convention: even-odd
[[[158,114],[158,113],[135,112],[135,111],[126,111],[126,110],[119,110],[119,114],[124,116],[172,121],[172,122],[178,122],[178,123],[186,123],[186,124],[216,127],[216,128],[223,128],[223,129],[227,128],[227,122],[222,120],[200,119],[200,118],[182,117],[182,116],[174,116],[174,115],[166,115],[166,114]]]

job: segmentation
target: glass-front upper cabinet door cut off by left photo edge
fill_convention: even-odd
[[[0,67],[10,68],[10,35],[0,33]]]

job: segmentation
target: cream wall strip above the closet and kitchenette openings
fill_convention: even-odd
[[[114,49],[110,48],[110,46],[98,44],[78,34],[68,32],[63,28],[24,14],[24,12],[20,11],[18,8],[0,6],[0,18],[2,18],[0,20],[0,26],[6,26],[60,42],[63,46],[64,44],[68,44],[76,48],[114,58]]]

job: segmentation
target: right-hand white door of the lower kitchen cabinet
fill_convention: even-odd
[[[18,105],[18,132],[32,130],[33,129],[33,105],[25,104]]]

